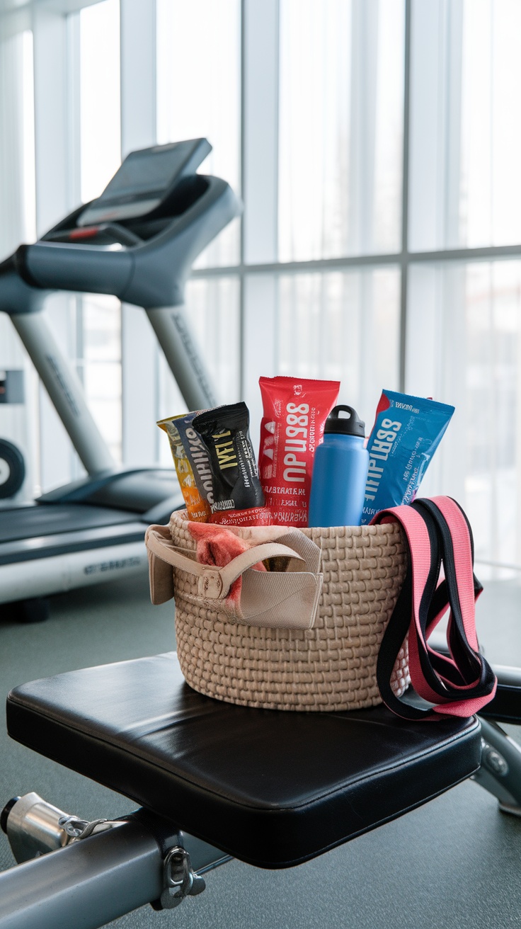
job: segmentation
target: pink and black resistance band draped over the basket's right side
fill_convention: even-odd
[[[477,713],[494,697],[497,680],[479,654],[475,600],[482,587],[474,574],[472,530],[461,506],[450,497],[417,500],[383,510],[371,522],[399,522],[409,543],[407,575],[378,655],[382,700],[404,719],[439,720],[440,714]],[[440,581],[442,564],[445,578]],[[428,640],[448,608],[450,654],[444,655]],[[412,687],[433,706],[398,700],[391,689],[397,654],[408,634]]]

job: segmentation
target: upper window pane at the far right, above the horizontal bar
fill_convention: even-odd
[[[516,0],[413,0],[410,247],[521,241]]]

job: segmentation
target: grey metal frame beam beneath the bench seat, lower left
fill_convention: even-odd
[[[197,872],[229,860],[174,823],[138,810],[107,831],[0,873],[0,929],[98,929],[147,903],[157,908],[164,858],[176,845],[189,851]]]

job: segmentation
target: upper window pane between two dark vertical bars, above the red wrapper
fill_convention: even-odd
[[[280,0],[281,261],[397,252],[403,0]]]

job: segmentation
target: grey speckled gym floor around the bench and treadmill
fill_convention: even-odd
[[[521,665],[521,586],[491,582],[478,605],[488,658]],[[0,607],[1,616],[1,607]],[[175,648],[173,607],[151,607],[145,577],[52,601],[41,625],[0,622],[0,684]],[[3,699],[3,698],[2,698]],[[521,729],[510,727],[514,737]],[[0,807],[36,791],[83,818],[121,816],[125,800],[7,739],[0,723]],[[13,865],[0,834],[0,870]],[[70,925],[73,929],[74,914]],[[467,781],[434,802],[299,868],[239,861],[211,872],[202,896],[179,909],[150,907],[117,929],[491,929],[521,926],[521,819]]]

